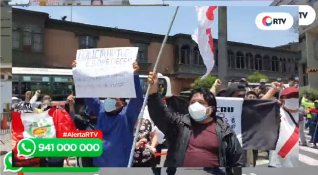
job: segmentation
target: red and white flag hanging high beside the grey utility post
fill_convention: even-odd
[[[207,72],[202,79],[206,78],[214,66],[214,46],[212,37],[212,22],[214,20],[214,11],[217,6],[196,6],[198,13],[199,27],[192,35],[192,39],[199,45],[199,51]]]

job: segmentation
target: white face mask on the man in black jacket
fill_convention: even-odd
[[[204,119],[208,118],[207,109],[209,107],[205,107],[199,102],[195,102],[189,106],[189,113],[190,116],[195,121],[203,121]]]

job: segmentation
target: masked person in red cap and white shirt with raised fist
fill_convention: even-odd
[[[270,99],[277,92],[280,91],[281,84],[273,82],[271,89],[264,95],[263,99]],[[281,123],[279,130],[279,137],[276,144],[276,150],[270,151],[269,167],[298,167],[298,143],[287,144],[290,138],[298,139],[298,123],[299,121],[299,104],[298,104],[298,88],[288,87],[285,88],[280,96],[279,102],[281,103],[280,115]],[[295,145],[294,145],[295,144]]]

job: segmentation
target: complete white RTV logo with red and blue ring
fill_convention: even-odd
[[[255,18],[255,24],[261,30],[288,30],[293,23],[292,15],[285,12],[259,13]]]

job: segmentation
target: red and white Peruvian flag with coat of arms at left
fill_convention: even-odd
[[[42,113],[12,111],[12,166],[44,166],[44,158],[17,156],[17,143],[23,138],[55,138],[61,132],[75,130],[75,123],[64,109],[53,107]]]

